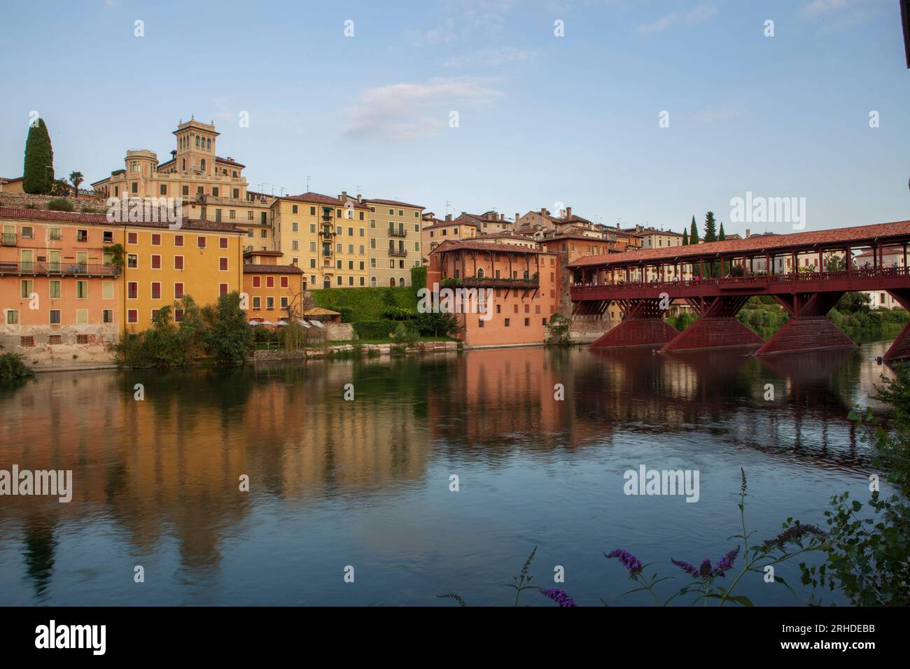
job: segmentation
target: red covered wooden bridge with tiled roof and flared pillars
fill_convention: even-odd
[[[620,309],[622,321],[593,348],[754,346],[770,355],[854,347],[828,311],[854,290],[887,292],[910,309],[908,243],[910,221],[899,221],[586,256],[569,265],[572,313]],[[736,319],[753,295],[773,297],[790,314],[767,341]],[[673,300],[698,317],[682,332],[663,320]],[[885,353],[902,358],[910,358],[910,324]]]

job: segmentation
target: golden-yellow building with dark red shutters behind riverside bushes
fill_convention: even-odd
[[[124,248],[123,304],[127,332],[147,329],[158,309],[190,295],[197,305],[243,291],[244,232],[223,223],[184,219],[167,223],[127,223],[116,229]],[[182,313],[175,309],[173,319]]]

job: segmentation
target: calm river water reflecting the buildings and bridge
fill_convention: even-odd
[[[534,545],[535,583],[562,565],[578,603],[649,603],[620,597],[629,582],[603,552],[626,548],[684,583],[670,557],[733,547],[741,467],[757,540],[787,516],[824,524],[834,493],[865,499],[869,453],[845,416],[886,371],[870,361],[886,348],[39,375],[0,390],[0,469],[72,470],[74,498],[0,497],[0,604],[509,603],[502,583]],[[640,464],[699,470],[701,499],[624,495]],[[779,573],[798,583],[795,565]],[[795,603],[757,579],[742,593]]]

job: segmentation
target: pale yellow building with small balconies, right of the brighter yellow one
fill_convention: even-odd
[[[390,199],[364,199],[369,207],[369,285],[410,286],[420,267],[423,207]]]

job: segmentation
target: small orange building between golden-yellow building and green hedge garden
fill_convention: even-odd
[[[306,289],[303,269],[279,265],[280,251],[248,251],[243,256],[243,292],[247,295],[249,319],[272,322],[288,316],[288,307],[297,309]]]

